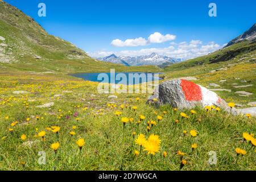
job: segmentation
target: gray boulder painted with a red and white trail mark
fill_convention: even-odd
[[[155,98],[157,102],[154,100]],[[191,109],[197,105],[215,105],[226,111],[230,110],[226,102],[218,97],[216,93],[201,85],[182,79],[162,82],[147,102],[158,106],[169,104],[179,109]]]

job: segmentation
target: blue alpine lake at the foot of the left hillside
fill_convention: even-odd
[[[161,73],[114,72],[114,73],[75,73],[74,77],[88,81],[115,83],[123,85],[141,84],[143,82],[162,80]]]

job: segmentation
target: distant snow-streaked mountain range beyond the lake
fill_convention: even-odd
[[[170,64],[179,63],[182,59],[176,59],[174,57],[162,56],[158,53],[151,53],[145,56],[116,56],[114,54],[106,57],[97,58],[98,60],[123,64],[126,66],[139,66],[139,65],[157,65],[159,67],[164,67]]]

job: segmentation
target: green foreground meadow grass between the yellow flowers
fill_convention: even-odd
[[[256,134],[255,118],[235,117],[222,111],[207,113],[198,107],[195,108],[196,115],[189,114],[189,110],[182,110],[190,117],[184,119],[180,117],[181,111],[175,112],[170,106],[157,109],[146,105],[147,94],[118,94],[117,99],[109,100],[109,94],[96,92],[96,83],[72,81],[69,78],[1,76],[0,84],[0,137],[6,137],[0,140],[1,170],[179,170],[180,157],[176,155],[178,150],[185,152],[184,159],[187,164],[183,170],[256,169],[255,147],[243,142],[242,138],[243,132]],[[14,90],[26,90],[31,93],[14,95]],[[72,93],[63,93],[63,90],[71,90]],[[54,94],[64,96],[56,98],[53,97]],[[136,97],[141,100],[136,101]],[[129,98],[133,100],[130,101]],[[51,109],[36,108],[37,105],[47,102],[55,102],[55,105]],[[111,109],[109,102],[114,102],[117,107]],[[123,129],[121,118],[114,115],[115,110],[121,110],[121,104],[127,104],[121,117],[138,121],[139,115],[143,114],[146,119],[139,126],[134,122],[127,123]],[[129,109],[129,106],[134,105],[138,106],[135,113]],[[85,107],[88,107],[88,110],[83,110]],[[162,115],[163,111],[167,111],[163,120],[147,132],[146,122],[150,119],[157,121],[156,116]],[[79,116],[73,117],[76,112]],[[71,118],[66,119],[67,115]],[[9,119],[5,119],[6,116],[9,116]],[[39,116],[39,121],[33,116]],[[27,118],[31,120],[27,122]],[[77,122],[76,118],[80,120]],[[175,123],[176,119],[180,121],[178,124]],[[14,121],[18,121],[18,125],[11,127],[10,124]],[[46,130],[46,127],[55,125],[61,128],[58,137]],[[76,135],[71,137],[69,132],[72,131],[73,125],[77,126],[77,129]],[[9,132],[9,128],[14,129],[13,133]],[[47,132],[45,142],[40,137],[35,137],[36,129]],[[184,136],[183,130],[187,130],[188,134]],[[197,137],[191,137],[190,130],[196,130]],[[151,158],[141,151],[139,156],[135,156],[134,150],[139,150],[139,146],[134,142],[134,131],[137,135],[142,133],[146,137],[150,134],[159,135],[162,140],[159,153]],[[27,135],[25,141],[20,139],[22,134]],[[85,139],[81,152],[76,145],[79,138]],[[27,141],[36,143],[32,147],[23,146]],[[50,145],[57,141],[60,148],[55,156]],[[195,151],[191,149],[193,143],[198,144]],[[247,154],[237,156],[236,147],[246,150]],[[46,152],[46,165],[38,164],[40,151]],[[168,152],[167,158],[163,158],[164,151]],[[217,153],[216,165],[208,164],[210,151]],[[26,162],[26,165],[23,167],[21,162]]]

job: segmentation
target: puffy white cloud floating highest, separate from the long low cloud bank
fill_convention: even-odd
[[[137,46],[146,46],[151,43],[164,43],[171,40],[175,40],[176,36],[171,34],[162,35],[159,32],[151,34],[147,40],[140,37],[136,39],[126,39],[125,41],[120,39],[112,40],[111,44],[115,47],[137,47]]]

